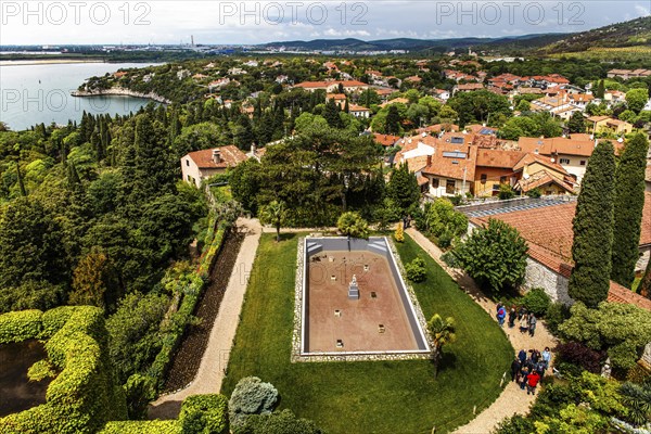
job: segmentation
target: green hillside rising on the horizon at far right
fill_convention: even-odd
[[[624,48],[651,46],[651,16],[611,24],[578,34],[571,34],[561,40],[540,49],[545,54],[574,53],[595,48]]]

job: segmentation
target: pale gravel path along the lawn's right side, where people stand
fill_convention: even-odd
[[[406,232],[421,246],[438,265],[447,271],[480,306],[484,308],[495,319],[496,304],[486,297],[477,288],[475,282],[463,271],[449,268],[443,260],[441,255],[443,252],[426,237],[417,231],[414,228],[408,228]],[[528,334],[520,333],[518,324],[515,328],[509,329],[505,327],[505,333],[511,345],[519,352],[520,349],[536,348],[542,350],[546,346],[553,348],[557,344],[556,339],[547,331],[542,321],[538,321],[536,333],[533,337]],[[513,355],[514,356],[514,355]],[[469,379],[470,381],[470,379]],[[468,424],[457,429],[454,434],[486,434],[489,433],[505,418],[513,414],[525,414],[528,412],[529,406],[534,403],[535,396],[527,395],[525,391],[510,382],[503,390],[501,395],[487,409],[482,411],[475,419]]]

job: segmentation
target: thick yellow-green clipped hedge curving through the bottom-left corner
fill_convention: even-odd
[[[13,342],[59,328],[46,350],[61,369],[48,387],[46,404],[0,419],[2,433],[94,433],[106,421],[126,418],[124,392],[116,386],[108,361],[102,310],[91,306],[53,310],[17,311],[0,318],[0,335],[13,335]]]

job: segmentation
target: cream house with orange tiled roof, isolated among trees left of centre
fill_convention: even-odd
[[[201,188],[201,183],[217,174],[224,174],[230,167],[246,161],[246,154],[237,146],[213,148],[194,151],[181,158],[183,180]]]

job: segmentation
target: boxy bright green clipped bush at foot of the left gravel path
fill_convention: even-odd
[[[183,434],[227,434],[228,398],[224,395],[193,395],[183,400],[179,416]]]

